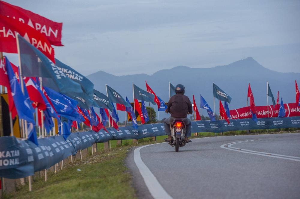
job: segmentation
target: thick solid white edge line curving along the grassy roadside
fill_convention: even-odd
[[[152,144],[156,145],[156,144]],[[151,145],[146,145],[151,146]],[[140,149],[146,147],[142,146],[134,150],[134,162],[142,175],[144,182],[154,199],[173,199],[166,190],[161,186],[156,177],[152,174],[150,169],[145,165],[141,158]]]

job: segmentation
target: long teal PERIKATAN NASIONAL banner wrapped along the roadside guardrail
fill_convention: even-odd
[[[252,119],[229,121],[229,124],[225,120],[192,121],[192,133],[300,127],[300,117],[261,118],[257,123]],[[39,146],[27,139],[0,137],[0,177],[16,179],[33,175],[94,143],[165,135],[162,123],[139,125],[138,129],[131,126],[119,127],[119,130],[107,128],[107,131],[71,133],[67,140],[61,135],[40,138]]]

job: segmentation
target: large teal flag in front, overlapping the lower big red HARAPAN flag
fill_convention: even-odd
[[[81,85],[72,81],[59,67],[49,60],[41,51],[18,35],[22,75],[26,77],[42,77],[43,85],[57,92],[81,93]]]

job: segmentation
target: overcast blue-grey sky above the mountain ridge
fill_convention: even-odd
[[[300,72],[300,1],[7,2],[63,22],[65,46],[54,47],[55,57],[83,75],[206,68],[243,57]]]

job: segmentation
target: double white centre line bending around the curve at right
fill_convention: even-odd
[[[235,144],[238,144],[238,143],[250,142],[250,141],[256,141],[256,140],[261,140],[261,139],[244,140],[244,141],[239,141],[239,142],[230,142],[230,143],[227,143],[227,144],[223,144],[220,147],[224,148],[224,149],[232,150],[232,151],[241,152],[241,153],[255,154],[255,155],[261,155],[261,156],[266,156],[266,157],[281,158],[281,159],[289,159],[289,160],[293,160],[293,161],[296,161],[296,162],[300,162],[300,157],[286,156],[286,155],[273,154],[273,153],[266,153],[266,152],[261,152],[261,151],[251,151],[251,150],[247,150],[247,149],[232,147],[232,145],[235,145]]]

